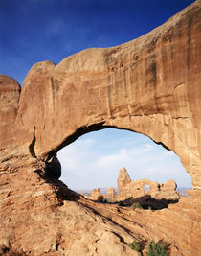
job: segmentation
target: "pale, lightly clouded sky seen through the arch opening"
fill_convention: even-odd
[[[119,169],[126,167],[132,180],[147,178],[191,188],[190,175],[172,151],[145,135],[115,128],[82,135],[57,153],[61,180],[74,190],[117,187]]]

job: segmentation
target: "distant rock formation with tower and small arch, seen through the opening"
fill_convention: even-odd
[[[94,189],[90,199],[103,201],[105,198],[114,202],[132,198],[141,204],[149,204],[157,209],[167,207],[169,202],[176,202],[180,198],[174,180],[169,179],[164,184],[149,179],[131,180],[124,167],[120,169],[117,183],[117,195],[113,187],[108,188],[106,195],[101,194],[100,189]]]

